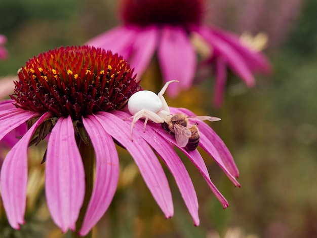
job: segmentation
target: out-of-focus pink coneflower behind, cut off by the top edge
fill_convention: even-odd
[[[195,77],[196,52],[215,67],[215,104],[222,101],[227,68],[248,85],[255,84],[254,72],[268,72],[269,63],[258,52],[243,45],[239,36],[202,23],[207,12],[204,0],[123,0],[123,25],[105,32],[87,44],[109,48],[129,59],[140,76],[157,53],[163,81],[179,80],[188,89]],[[180,88],[171,85],[170,96]]]

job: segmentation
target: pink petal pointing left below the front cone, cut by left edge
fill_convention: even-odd
[[[10,131],[25,123],[31,117],[34,117],[33,112],[24,111],[16,108],[12,114],[7,114],[0,117],[0,140]]]

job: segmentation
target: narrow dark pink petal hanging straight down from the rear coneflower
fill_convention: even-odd
[[[220,107],[223,100],[223,94],[227,82],[226,62],[219,56],[216,59],[216,82],[214,89],[214,105]]]

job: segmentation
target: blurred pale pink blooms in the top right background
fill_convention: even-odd
[[[268,49],[276,49],[287,39],[305,0],[212,0],[206,21],[238,34],[263,32]]]

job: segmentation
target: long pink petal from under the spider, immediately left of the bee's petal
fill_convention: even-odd
[[[130,116],[130,114],[122,111],[115,111],[114,114],[122,119],[128,118]],[[131,121],[126,122],[131,126]],[[157,134],[157,130],[153,129],[150,125],[151,123],[149,123],[149,126],[146,127],[146,133],[143,133],[144,123],[142,121],[138,121],[134,125],[134,130],[139,132],[139,135],[142,136],[146,142],[149,143],[152,148],[161,156],[162,160],[175,178],[183,200],[190,215],[192,216],[194,225],[199,225],[198,201],[189,174],[180,157],[172,148],[171,144],[159,136]]]

